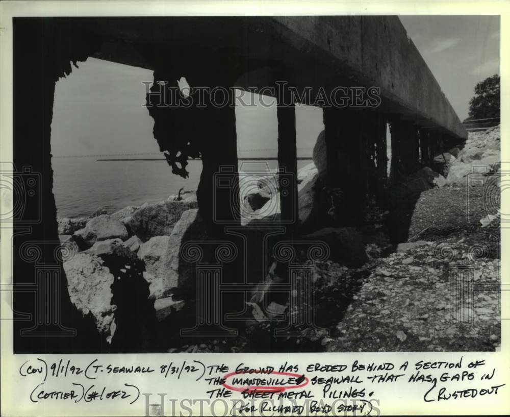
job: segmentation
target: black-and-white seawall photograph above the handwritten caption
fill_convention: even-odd
[[[501,352],[500,15],[339,10],[12,17],[15,356]]]

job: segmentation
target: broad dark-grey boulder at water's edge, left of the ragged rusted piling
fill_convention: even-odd
[[[197,207],[196,201],[184,200],[147,204],[133,213],[127,226],[144,241],[154,236],[169,236],[183,212]]]

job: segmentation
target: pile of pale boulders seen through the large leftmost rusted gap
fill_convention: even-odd
[[[185,278],[179,274],[180,240],[200,223],[195,192],[112,214],[98,208],[88,218],[57,218],[57,223],[61,244],[70,254],[64,270],[71,302],[84,316],[93,316],[108,342],[117,328],[116,281],[125,281],[124,290],[133,292],[135,286],[129,286],[138,275],[136,289],[146,292],[138,301],[154,304],[159,320],[172,306],[182,306],[182,301],[173,300],[171,289]]]

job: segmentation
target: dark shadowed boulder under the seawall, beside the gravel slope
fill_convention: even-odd
[[[368,261],[361,235],[351,227],[326,227],[303,236],[304,240],[321,240],[329,245],[329,259],[359,267]]]

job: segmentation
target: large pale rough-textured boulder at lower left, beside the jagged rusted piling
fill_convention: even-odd
[[[116,306],[111,304],[110,288],[113,275],[97,256],[83,252],[64,262],[64,271],[71,302],[84,316],[92,314],[97,330],[110,341],[115,331],[112,322]]]

